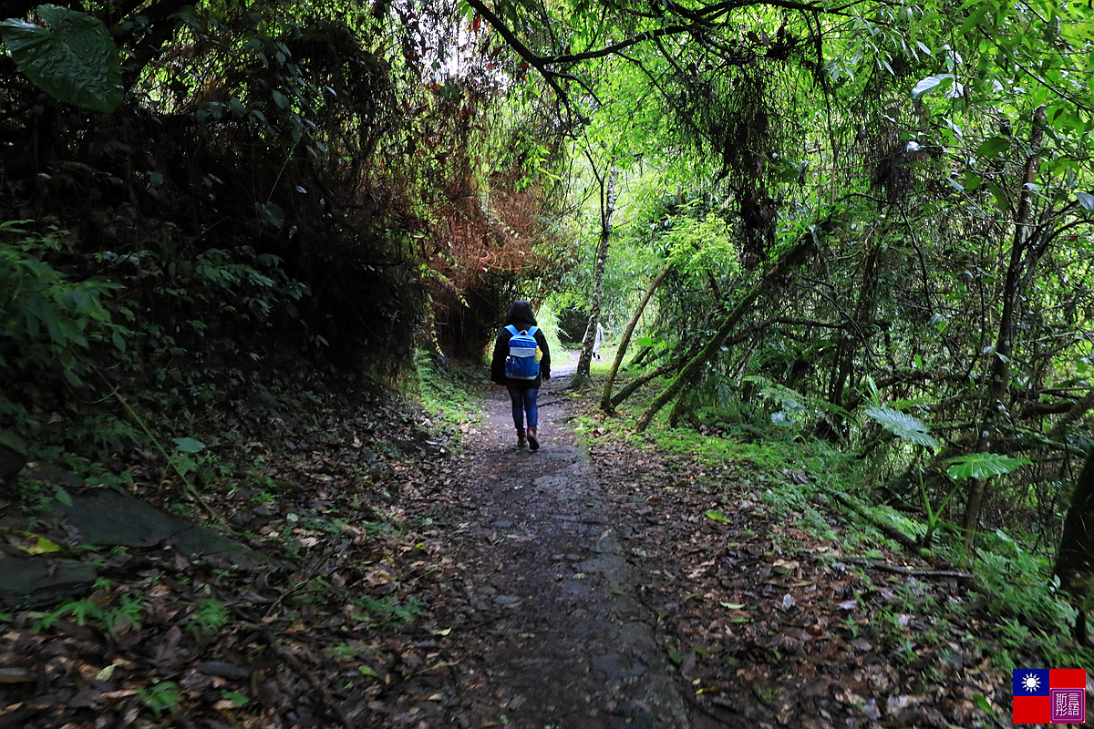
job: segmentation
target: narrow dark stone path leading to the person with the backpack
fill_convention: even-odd
[[[457,666],[455,726],[691,727],[679,672],[578,446],[568,378],[540,390],[542,449],[514,445],[509,397],[490,392],[466,478],[435,519],[453,539],[444,643]],[[433,726],[433,725],[429,725]]]

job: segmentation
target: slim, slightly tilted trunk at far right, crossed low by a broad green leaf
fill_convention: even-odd
[[[985,402],[979,435],[976,440],[977,454],[989,452],[991,444],[999,437],[999,426],[1002,413],[1006,409],[1004,400],[1011,384],[1011,355],[1014,352],[1014,319],[1024,289],[1023,280],[1031,280],[1037,266],[1036,256],[1029,246],[1029,185],[1037,174],[1037,157],[1040,154],[1040,142],[1044,137],[1045,107],[1034,111],[1033,131],[1029,136],[1029,157],[1026,160],[1023,175],[1022,191],[1019,193],[1019,207],[1014,212],[1014,239],[1011,244],[1011,260],[1006,267],[1006,279],[1003,282],[1003,310],[999,317],[999,336],[996,338],[994,356],[991,361],[991,377],[988,383],[988,398]],[[965,503],[965,549],[973,546],[977,522],[980,520],[980,509],[987,495],[988,480],[974,479],[969,487],[968,501]]]

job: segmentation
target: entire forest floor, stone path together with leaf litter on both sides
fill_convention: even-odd
[[[516,448],[503,390],[476,397],[459,444],[373,407],[301,428],[294,451],[270,451],[295,454],[267,483],[279,493],[217,502],[284,545],[278,567],[223,568],[156,534],[98,545],[116,592],[7,616],[0,667],[20,681],[0,687],[0,728],[981,727],[985,702],[1005,715],[993,619],[966,580],[789,501],[812,478],[802,465],[741,444],[717,462],[664,448],[614,431],[569,384],[540,392],[536,452]],[[403,460],[313,439],[379,422]],[[697,448],[730,443],[707,437]],[[102,627],[69,620],[78,607]]]

